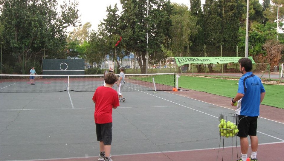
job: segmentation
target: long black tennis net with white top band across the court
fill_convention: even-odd
[[[8,92],[94,92],[103,86],[104,75],[0,75],[0,93]],[[123,91],[167,91],[175,87],[174,73],[125,74]],[[117,89],[114,85],[113,89]]]

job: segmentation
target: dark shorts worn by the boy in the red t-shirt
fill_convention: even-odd
[[[112,123],[96,123],[97,140],[103,145],[112,145]]]

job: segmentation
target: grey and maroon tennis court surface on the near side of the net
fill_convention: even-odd
[[[0,160],[97,160],[93,93],[0,93]],[[235,113],[230,98],[191,90],[127,91],[123,96],[126,101],[113,110],[114,161],[217,160],[218,115]],[[258,121],[257,157],[281,160],[284,110],[265,108],[265,118]],[[239,138],[225,138],[218,160],[238,159],[232,140],[239,146]]]

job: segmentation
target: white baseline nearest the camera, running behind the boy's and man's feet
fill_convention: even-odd
[[[262,143],[262,144],[258,144],[258,145],[269,145],[269,144],[279,144],[279,143],[284,143],[284,142]],[[237,147],[240,147],[240,145],[238,145]],[[224,148],[232,148],[232,146],[226,146]],[[216,148],[204,148],[204,149],[191,149],[191,150],[179,150],[179,151],[157,151],[157,152],[149,152],[149,153],[119,154],[119,155],[112,155],[112,156],[129,156],[129,155],[141,155],[141,154],[175,153],[175,152],[201,151],[201,150],[214,150],[214,149],[219,149],[219,147],[216,147]],[[221,149],[221,147],[220,147],[220,149]],[[80,159],[80,158],[97,158],[97,156],[88,156],[87,154],[85,154],[85,157],[50,158],[50,159],[34,159],[34,160],[5,160],[5,161],[68,160],[68,159]]]

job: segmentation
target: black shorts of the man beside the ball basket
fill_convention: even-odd
[[[243,116],[238,115],[237,121],[239,132],[237,134],[238,137],[248,137],[248,135],[256,136],[256,128],[257,128],[257,118],[258,116]]]

